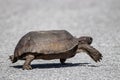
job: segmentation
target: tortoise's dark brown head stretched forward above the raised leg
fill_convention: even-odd
[[[93,38],[90,36],[82,36],[78,38],[79,44],[91,44],[93,41]]]

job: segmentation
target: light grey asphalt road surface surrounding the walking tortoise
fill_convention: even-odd
[[[119,80],[120,0],[0,0],[0,80]],[[65,29],[74,36],[92,36],[103,54],[95,63],[77,54],[62,66],[59,60],[10,62],[18,40],[34,30]]]

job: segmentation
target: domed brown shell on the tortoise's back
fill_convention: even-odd
[[[57,54],[73,49],[78,41],[65,30],[32,31],[21,38],[15,56],[24,53]]]

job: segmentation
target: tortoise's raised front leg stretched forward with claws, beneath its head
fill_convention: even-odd
[[[81,49],[85,50],[87,52],[87,54],[95,61],[95,62],[100,62],[100,60],[102,60],[102,54],[96,50],[94,47],[87,45],[87,44],[83,44],[80,46]]]

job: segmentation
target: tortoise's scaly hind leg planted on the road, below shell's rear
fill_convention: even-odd
[[[33,61],[33,59],[35,58],[34,55],[31,55],[31,54],[28,54],[26,56],[26,60],[25,60],[25,63],[23,64],[23,70],[31,70],[32,67],[31,67],[31,62]]]

